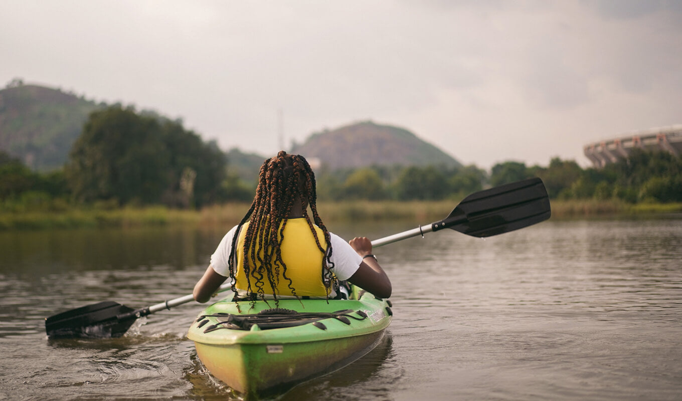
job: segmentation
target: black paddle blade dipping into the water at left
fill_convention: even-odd
[[[103,301],[68,310],[45,319],[48,338],[110,338],[123,336],[136,317],[134,309],[113,301]],[[119,319],[119,315],[127,314]]]

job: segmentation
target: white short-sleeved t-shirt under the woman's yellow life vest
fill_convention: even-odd
[[[230,252],[232,252],[232,240],[237,232],[237,226],[234,226],[230,231],[222,237],[222,240],[216,248],[216,252],[211,255],[211,267],[213,271],[223,277],[230,276]],[[355,252],[349,243],[344,241],[336,234],[329,233],[331,239],[331,263],[333,268],[331,271],[336,275],[338,280],[348,280],[362,263],[362,257]],[[333,291],[332,291],[333,292]],[[330,294],[333,297],[336,294]]]

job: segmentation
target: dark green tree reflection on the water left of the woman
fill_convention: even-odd
[[[224,233],[198,227],[0,232],[3,273],[63,273],[207,263]]]

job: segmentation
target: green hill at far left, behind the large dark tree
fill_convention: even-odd
[[[61,168],[98,107],[72,93],[15,80],[0,90],[0,150],[34,170]]]

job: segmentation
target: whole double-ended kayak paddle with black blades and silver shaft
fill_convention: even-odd
[[[550,201],[547,191],[542,180],[531,178],[471,194],[443,220],[376,239],[372,241],[372,246],[383,246],[443,228],[451,228],[474,237],[490,237],[548,218]],[[231,288],[230,284],[223,284],[218,291],[226,291],[228,288]],[[128,308],[113,301],[93,303],[46,318],[45,330],[48,338],[120,337],[136,319],[193,300],[194,297],[190,294],[140,309]]]

